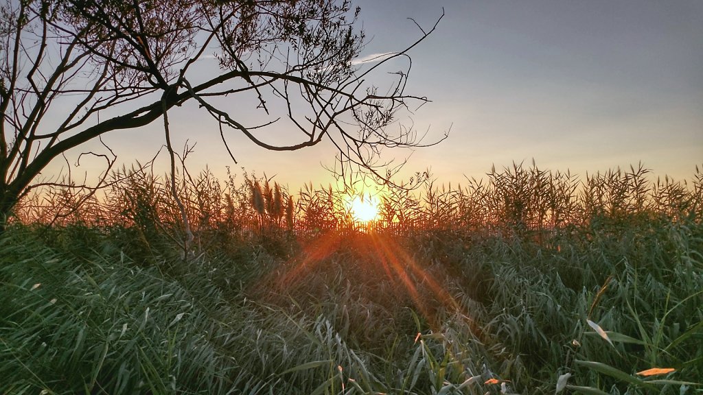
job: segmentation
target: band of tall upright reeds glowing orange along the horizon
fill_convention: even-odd
[[[491,169],[485,179],[467,179],[464,186],[437,186],[429,181],[417,190],[388,190],[380,196],[374,228],[396,235],[427,230],[501,234],[543,243],[560,231],[576,228],[599,231],[600,226],[617,228],[657,217],[699,221],[703,172],[696,168],[690,182],[668,176],[653,181],[650,175],[642,164],[580,179],[569,171],[540,169],[534,162],[530,167],[514,163],[502,171]],[[292,193],[278,182],[246,172],[240,183],[229,171],[224,183],[209,169],[191,176],[183,168],[176,176],[196,235],[214,229],[242,236],[288,228],[305,238],[357,228],[344,205],[347,190],[316,189],[310,183]],[[65,188],[38,191],[20,202],[15,219],[25,224],[117,225],[143,233],[158,228],[178,238],[174,231],[182,225],[181,214],[168,183],[167,176],[157,176],[149,167],[123,168],[112,174],[102,195],[86,197]],[[260,232],[262,226],[266,232]]]

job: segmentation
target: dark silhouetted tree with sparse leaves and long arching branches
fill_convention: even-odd
[[[387,178],[380,171],[385,165],[380,148],[421,145],[412,129],[394,122],[396,110],[427,101],[405,93],[407,52],[437,23],[420,29],[405,50],[359,69],[355,60],[364,34],[355,27],[358,15],[348,0],[10,0],[0,5],[0,223],[30,190],[58,183],[39,179],[50,162],[110,131],[162,119],[173,172],[167,115],[186,101],[197,101],[217,121],[233,160],[231,130],[274,151],[327,138],[338,150],[342,171],[366,169]],[[213,57],[217,75],[193,72],[198,60]],[[406,68],[384,77],[383,91],[368,83],[378,79],[370,73],[400,57]],[[244,110],[233,108],[233,96],[250,99],[245,110],[259,112],[262,121],[241,121],[238,113]],[[53,110],[61,103],[72,103],[71,110]],[[275,123],[287,124],[299,141],[266,140],[260,129]],[[86,154],[106,161],[103,176],[91,186],[99,187],[115,157],[111,151]]]

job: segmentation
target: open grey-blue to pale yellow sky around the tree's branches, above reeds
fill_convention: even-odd
[[[690,179],[703,166],[703,1],[361,0],[362,57],[399,51],[420,37],[408,18],[437,30],[413,48],[408,93],[427,103],[408,117],[431,148],[404,175],[427,168],[440,183],[481,178],[491,166],[526,165],[583,177],[643,162],[654,176]],[[214,60],[213,60],[214,63]],[[205,66],[203,66],[205,67]],[[197,142],[191,171],[225,166],[276,176],[293,189],[327,184],[328,143],[273,153],[229,138],[195,105],[172,112],[174,145]],[[145,162],[163,143],[161,122],[106,136],[124,162]],[[164,155],[165,156],[165,155]]]

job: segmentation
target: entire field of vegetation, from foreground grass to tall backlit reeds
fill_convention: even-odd
[[[703,394],[703,173],[344,191],[144,167],[0,235],[0,394]],[[184,221],[184,219],[187,221]]]

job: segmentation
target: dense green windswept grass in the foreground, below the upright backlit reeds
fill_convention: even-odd
[[[694,221],[549,245],[329,233],[187,262],[125,232],[1,235],[1,394],[548,394],[562,375],[584,394],[701,393]]]

